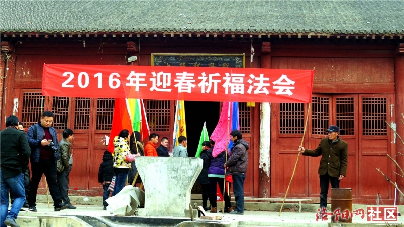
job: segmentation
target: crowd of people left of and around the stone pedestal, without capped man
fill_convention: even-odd
[[[32,212],[37,211],[36,197],[43,175],[46,177],[54,202],[54,211],[76,209],[68,196],[69,173],[73,165],[71,153],[73,131],[65,129],[62,140],[58,142],[57,132],[52,127],[53,119],[53,112],[44,111],[40,121],[29,127],[27,134],[24,125],[16,116],[11,115],[6,119],[7,128],[0,132],[0,227],[18,226],[15,219],[22,207],[27,207]],[[201,185],[203,207],[205,210],[210,209],[211,213],[217,212],[217,187],[224,195],[224,212],[244,213],[244,179],[247,172],[249,144],[242,139],[242,134],[238,130],[233,130],[230,136],[234,146],[228,153],[227,161],[226,151],[214,155],[214,141],[205,141],[202,144],[200,158],[204,164],[196,182]],[[104,151],[103,162],[98,172],[98,182],[104,189],[104,209],[108,206],[106,199],[110,193],[114,196],[125,184],[141,181],[139,176],[136,178],[136,157],[188,157],[186,149],[188,141],[184,136],[178,137],[178,145],[171,154],[168,151],[167,137],[161,139],[157,149],[159,135],[151,133],[148,139],[147,144],[143,146],[139,132],[129,135],[129,131],[124,129],[114,138],[114,152]],[[233,182],[235,209],[230,202],[228,193],[230,187],[223,192],[225,179],[227,182]],[[10,211],[8,211],[9,193],[12,203]],[[210,207],[207,206],[208,198]]]

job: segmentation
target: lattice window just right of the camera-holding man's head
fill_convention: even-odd
[[[68,97],[53,97],[52,98],[52,112],[54,113],[54,121],[52,126],[55,129],[66,129],[67,120],[69,117],[69,103]]]

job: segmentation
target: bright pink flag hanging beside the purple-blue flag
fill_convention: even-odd
[[[213,147],[212,152],[213,157],[218,156],[218,154],[226,150],[226,146],[230,140],[232,114],[232,102],[223,102],[222,113],[220,114],[218,125],[210,137],[215,141],[215,146]]]

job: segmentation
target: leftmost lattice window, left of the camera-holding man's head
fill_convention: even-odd
[[[22,96],[21,122],[27,127],[41,119],[45,96],[41,92],[24,92]]]

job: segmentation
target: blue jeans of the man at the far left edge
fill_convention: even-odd
[[[14,202],[9,208],[9,189],[14,193]],[[0,169],[0,226],[6,227],[4,220],[9,217],[13,220],[17,219],[18,213],[25,202],[24,174],[3,178]]]

